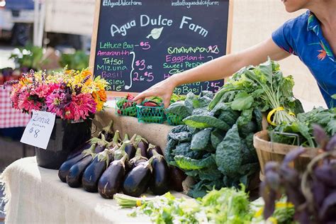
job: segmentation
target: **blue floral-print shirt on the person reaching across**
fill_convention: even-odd
[[[320,21],[307,11],[272,33],[274,43],[300,60],[310,69],[329,108],[336,106],[336,58],[323,37]],[[306,86],[309,88],[309,86]]]

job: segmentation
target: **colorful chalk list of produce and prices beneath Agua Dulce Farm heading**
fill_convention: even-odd
[[[204,62],[213,60],[220,54],[217,45],[207,47],[167,47],[167,54],[162,59],[162,67],[155,67],[150,59],[138,57],[139,51],[150,51],[150,41],[140,41],[139,44],[123,43],[100,43],[100,50],[96,57],[101,63],[96,64],[96,69],[101,70],[101,77],[108,82],[108,91],[128,91],[132,86],[140,82],[153,82],[155,77],[159,80],[192,69]],[[152,55],[152,57],[154,57]],[[160,72],[158,72],[160,71]],[[198,94],[203,90],[218,91],[223,82],[196,82],[178,86],[175,94]]]

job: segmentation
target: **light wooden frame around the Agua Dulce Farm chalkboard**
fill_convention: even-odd
[[[101,8],[101,0],[96,0],[96,5],[94,9],[94,28],[91,36],[91,50],[89,59],[89,69],[94,74],[94,62],[96,60],[96,42],[98,37],[99,28],[99,12]],[[226,37],[226,55],[231,53],[231,43],[233,34],[233,0],[229,0],[229,11],[228,11],[228,31]],[[225,79],[224,79],[225,81]],[[139,93],[135,92],[125,92],[125,91],[107,91],[108,96],[125,96],[125,94],[133,94],[134,96]]]

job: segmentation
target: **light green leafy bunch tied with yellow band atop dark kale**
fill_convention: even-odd
[[[215,108],[225,102],[233,110],[247,111],[259,108],[262,112],[275,109],[271,123],[279,124],[294,120],[291,113],[302,113],[301,102],[293,98],[293,77],[284,77],[279,64],[271,61],[257,67],[243,67],[218,91],[209,105]]]

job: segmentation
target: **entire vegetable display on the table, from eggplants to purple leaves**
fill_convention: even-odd
[[[136,134],[121,138],[111,121],[62,164],[61,181],[114,198],[121,208],[136,207],[131,216],[148,215],[154,223],[336,222],[336,110],[303,113],[293,97],[293,78],[284,77],[276,62],[240,69],[216,94],[173,95],[167,109],[157,97],[141,105],[133,99],[118,99],[116,113],[179,123],[169,131],[166,148]],[[263,120],[274,142],[321,152],[302,175],[290,163],[303,148],[289,152],[282,164],[267,163],[262,197],[250,201],[260,169],[253,136]],[[176,198],[170,190],[191,198]],[[156,196],[143,196],[148,192]]]

